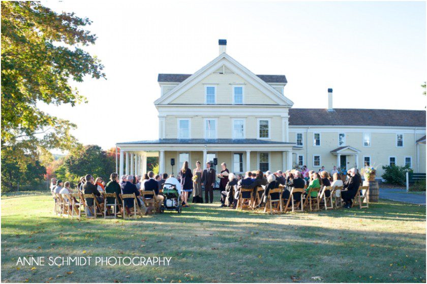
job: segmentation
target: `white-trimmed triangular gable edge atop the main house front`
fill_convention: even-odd
[[[194,74],[189,76],[184,81],[180,82],[177,86],[172,88],[166,94],[162,95],[158,98],[154,103],[158,104],[168,104],[173,101],[176,97],[186,92],[188,89],[196,85],[198,82],[206,78],[211,73],[215,72],[219,67],[225,65],[232,72],[236,73],[243,79],[247,80],[251,83],[252,86],[259,89],[263,94],[274,100],[279,105],[293,105],[293,102],[285,97],[281,92],[268,85],[265,81],[263,81],[260,77],[253,74],[248,68],[241,65],[235,59],[233,59],[227,53],[222,53],[214,60],[207,63],[205,66],[197,70]],[[181,74],[184,75],[185,74]],[[172,76],[171,76],[172,78]]]

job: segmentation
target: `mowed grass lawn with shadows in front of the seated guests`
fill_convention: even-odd
[[[218,205],[77,221],[55,217],[49,195],[2,199],[2,281],[425,282],[425,206],[380,200],[369,209],[270,216]],[[172,259],[170,266],[16,265],[28,255]]]

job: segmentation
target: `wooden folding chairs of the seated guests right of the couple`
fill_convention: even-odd
[[[264,206],[264,212],[269,210],[270,214],[273,212],[286,213],[291,212],[304,212],[320,210],[321,207],[324,210],[342,208],[343,203],[341,199],[341,191],[343,187],[330,187],[324,186],[322,191],[320,188],[311,188],[306,193],[307,186],[304,188],[292,188],[289,194],[289,198],[283,199],[283,191],[286,190],[283,186],[279,188],[271,189],[268,192],[267,199]],[[253,189],[240,189],[239,197],[237,200],[237,208],[240,209],[252,209],[258,208],[262,203],[261,196],[264,192],[262,187]],[[320,194],[319,194],[320,192]],[[312,193],[315,196],[312,196]],[[369,208],[368,201],[368,186],[360,186],[356,192],[356,195],[352,199],[352,206],[359,206],[359,208]],[[299,196],[299,198],[297,198]]]

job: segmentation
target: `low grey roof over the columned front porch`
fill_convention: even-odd
[[[272,145],[294,145],[295,143],[270,141],[262,139],[156,139],[156,140],[141,140],[133,142],[123,142],[117,144],[272,144]]]

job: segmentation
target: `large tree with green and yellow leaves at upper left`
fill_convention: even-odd
[[[50,149],[75,149],[75,125],[51,116],[38,103],[85,101],[70,81],[105,78],[103,65],[82,47],[94,44],[90,20],[55,13],[39,2],[2,1],[2,156],[24,171]],[[3,170],[2,170],[3,176]]]

